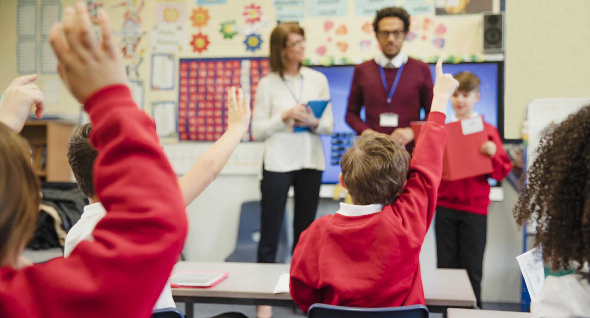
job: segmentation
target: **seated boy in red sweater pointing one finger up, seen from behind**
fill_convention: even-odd
[[[303,312],[314,303],[425,303],[418,256],[442,174],[445,108],[457,86],[439,60],[431,113],[411,161],[389,135],[375,133],[343,155],[340,183],[354,204],[340,203],[335,215],[314,221],[293,253],[291,297]]]

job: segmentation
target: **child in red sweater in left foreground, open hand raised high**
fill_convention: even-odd
[[[149,317],[182,250],[187,222],[176,175],[153,121],[133,102],[103,11],[99,25],[103,43],[78,2],[50,32],[61,78],[94,125],[94,188],[107,210],[94,240],[78,244],[68,259],[18,261],[40,201],[27,144],[17,135],[33,105],[41,116],[41,92],[23,87],[35,76],[13,82],[0,104],[2,318]]]

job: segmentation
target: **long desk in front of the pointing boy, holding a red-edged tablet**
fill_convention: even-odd
[[[290,264],[209,263],[180,261],[176,271],[227,271],[229,276],[209,289],[173,288],[176,302],[186,303],[186,317],[192,318],[192,303],[296,306],[289,293],[274,294],[278,277],[289,273]],[[444,313],[447,307],[471,307],[476,297],[466,270],[422,269],[426,305],[433,312]],[[451,288],[450,288],[451,287]]]

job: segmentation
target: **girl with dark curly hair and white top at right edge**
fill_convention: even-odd
[[[590,105],[550,127],[527,171],[513,214],[522,226],[536,221],[535,244],[553,270],[532,302],[533,317],[589,317],[590,283]]]

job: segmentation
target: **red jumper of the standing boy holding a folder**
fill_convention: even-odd
[[[477,175],[455,181],[441,181],[438,188],[438,206],[453,210],[487,215],[490,205],[490,184],[487,178],[502,180],[512,169],[510,159],[504,151],[499,132],[494,126],[484,122],[487,140],[496,144],[496,154],[491,158],[491,174]]]

